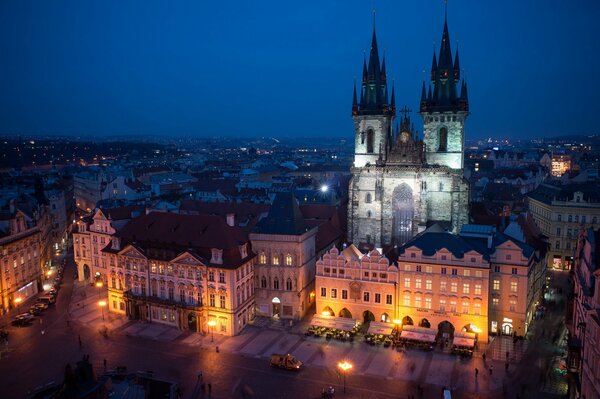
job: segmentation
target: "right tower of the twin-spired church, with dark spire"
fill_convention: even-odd
[[[460,93],[459,93],[460,82]],[[430,165],[464,168],[465,120],[469,115],[467,83],[460,81],[458,49],[452,61],[448,19],[444,18],[444,31],[439,58],[433,52],[431,83],[421,91],[421,117],[423,118],[426,157]]]

